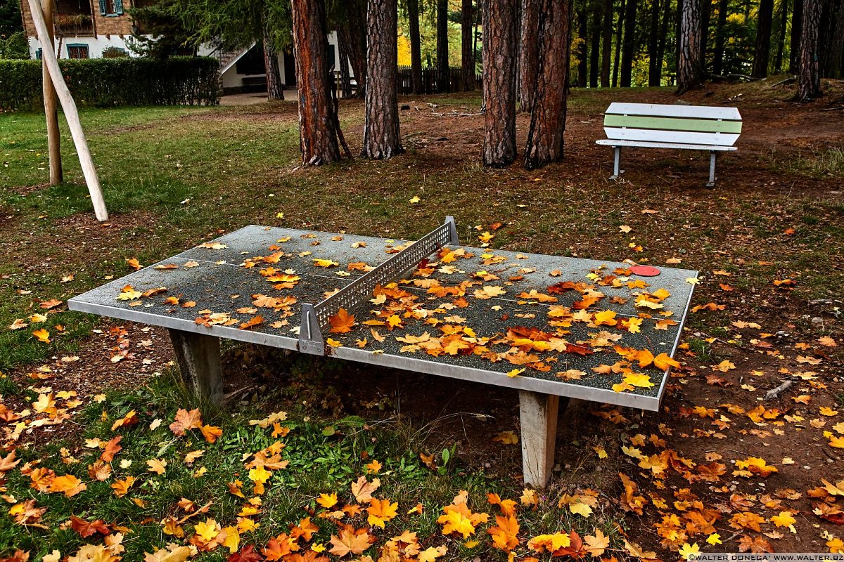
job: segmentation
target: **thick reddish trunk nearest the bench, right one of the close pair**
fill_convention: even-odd
[[[541,168],[563,158],[568,94],[571,0],[542,0],[536,99],[525,146],[525,168]]]

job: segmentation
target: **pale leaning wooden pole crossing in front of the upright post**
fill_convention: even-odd
[[[82,173],[85,176],[85,183],[88,185],[91,203],[94,204],[95,215],[98,221],[107,221],[108,211],[106,211],[106,201],[103,201],[102,190],[100,190],[100,179],[97,177],[94,160],[91,158],[91,152],[88,149],[88,141],[85,140],[85,132],[79,122],[79,112],[73,102],[73,96],[70,95],[68,84],[64,83],[62,69],[58,66],[56,53],[50,46],[50,32],[44,21],[44,13],[41,12],[41,3],[39,3],[39,0],[29,0],[29,3],[35,31],[38,34],[38,40],[41,42],[41,62],[46,65],[50,72],[53,87],[56,88],[58,99],[62,102],[64,117],[68,120],[73,144],[76,145],[76,153],[79,155],[79,163],[82,165]]]

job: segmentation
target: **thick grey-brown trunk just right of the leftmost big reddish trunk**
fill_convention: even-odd
[[[369,0],[366,12],[365,158],[392,158],[403,152],[398,128],[398,12],[396,0]]]

